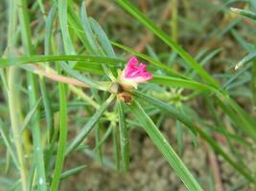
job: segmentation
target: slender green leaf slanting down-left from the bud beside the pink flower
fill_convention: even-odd
[[[94,113],[92,117],[90,117],[88,122],[81,128],[80,134],[76,138],[74,138],[73,141],[68,145],[65,152],[66,155],[72,152],[74,149],[76,149],[81,144],[82,140],[87,137],[87,135],[93,129],[97,121],[100,119],[100,117],[102,117],[108,104],[113,100],[113,98],[113,95],[109,96],[105,100],[105,103],[103,103],[102,106],[99,109],[97,109],[97,111]]]

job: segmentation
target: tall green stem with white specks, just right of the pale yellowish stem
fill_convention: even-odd
[[[31,39],[31,28],[30,28],[30,18],[27,9],[26,0],[17,0],[16,4],[18,6],[19,22],[21,27],[21,39],[22,45],[24,47],[24,52],[26,55],[31,56],[33,54],[33,45]],[[29,102],[30,107],[33,108],[37,101],[37,84],[35,80],[35,75],[28,73],[28,90],[29,90]],[[46,191],[46,177],[45,177],[45,165],[44,165],[44,154],[41,145],[41,132],[40,132],[40,118],[39,112],[35,112],[35,116],[32,119],[32,135],[34,144],[34,157],[35,157],[35,168],[37,175],[37,184],[39,191]]]

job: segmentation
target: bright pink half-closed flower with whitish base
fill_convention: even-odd
[[[146,64],[140,63],[135,56],[128,60],[125,70],[121,74],[120,83],[125,89],[135,88],[138,84],[146,83],[152,78],[151,73],[147,72]]]

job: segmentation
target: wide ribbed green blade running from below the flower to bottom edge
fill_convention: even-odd
[[[184,182],[188,190],[199,191],[202,190],[198,181],[192,176],[185,164],[176,155],[175,150],[168,143],[167,139],[163,137],[158,128],[154,125],[151,118],[145,113],[140,104],[134,100],[129,106],[134,117],[141,123],[144,130],[150,136],[151,140],[168,160],[170,165],[174,168],[176,175]]]

